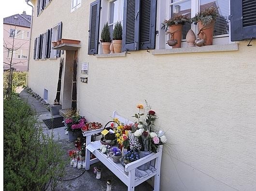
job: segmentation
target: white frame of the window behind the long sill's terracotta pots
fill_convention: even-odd
[[[157,16],[161,14],[161,11],[165,11],[165,16],[159,17],[161,20],[158,19],[158,22],[160,24],[159,30],[161,29],[161,23],[164,19],[170,19],[170,11],[171,11],[171,5],[175,5],[181,2],[185,2],[188,0],[178,0],[176,2],[170,3],[171,0],[166,0],[165,3],[161,4],[157,8]],[[165,10],[164,10],[165,9]],[[193,18],[200,10],[200,0],[191,0],[191,18]],[[230,0],[228,0],[228,15],[230,15]],[[159,26],[159,25],[158,25]],[[228,22],[228,34],[224,35],[217,35],[213,36],[213,44],[228,44],[232,43],[230,40],[230,22]],[[191,24],[191,29],[195,32],[196,36],[198,33],[198,27],[195,24]],[[157,30],[157,29],[156,29]],[[164,35],[164,37],[163,37]],[[164,38],[164,45],[163,43]],[[167,44],[167,41],[169,40],[169,35],[166,35],[164,32],[159,32],[158,37],[156,36],[156,49],[171,49],[172,47]],[[158,44],[159,43],[159,44]],[[185,39],[182,40],[182,48],[186,47],[186,41]]]

